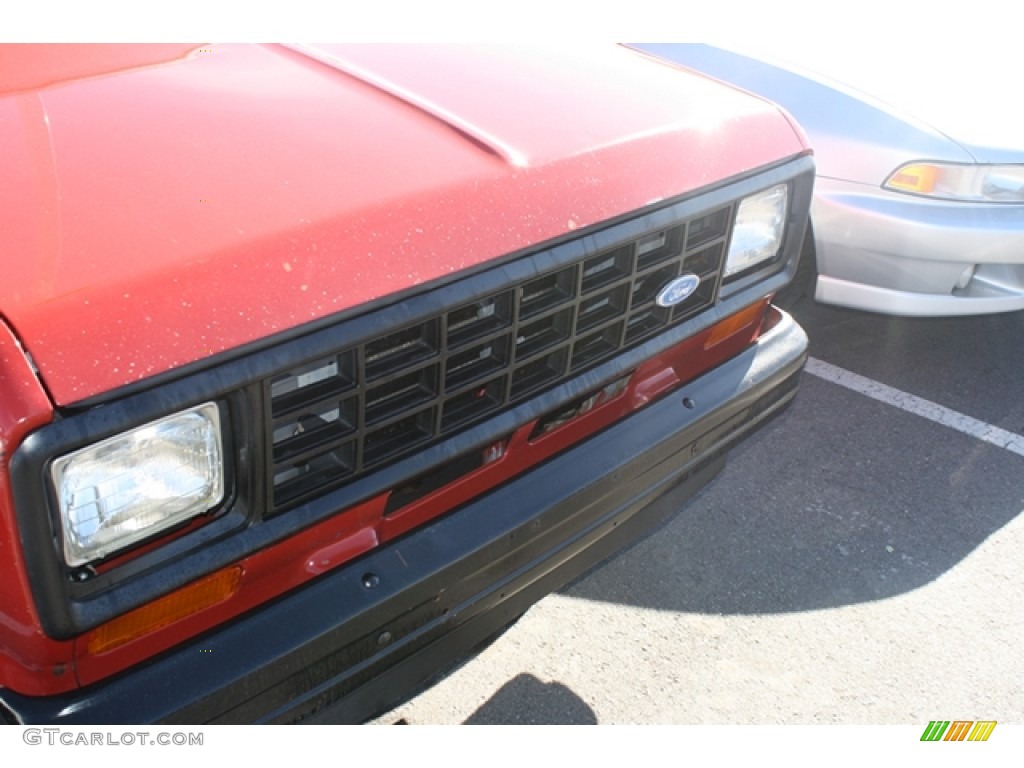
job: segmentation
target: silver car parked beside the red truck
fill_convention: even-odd
[[[1024,309],[1017,52],[1000,70],[989,51],[974,78],[971,55],[894,60],[885,46],[634,47],[776,101],[807,132],[817,180],[802,271],[808,292],[816,272],[818,301],[901,315]]]

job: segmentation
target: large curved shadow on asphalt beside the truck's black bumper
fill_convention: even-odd
[[[824,313],[834,325],[852,324],[855,334],[857,324],[887,322]],[[843,365],[843,354],[835,359],[827,349],[814,351],[820,331],[803,322],[812,354]],[[987,327],[987,321],[974,325]],[[831,333],[839,343],[835,328]],[[912,341],[914,348],[924,343]],[[1006,352],[979,350],[962,365],[976,366],[977,377],[977,367],[984,370],[988,358]],[[873,375],[883,378],[885,365],[876,360]],[[1016,370],[1019,376],[1019,359]],[[1004,386],[1012,416],[1024,398],[1019,384]],[[955,390],[938,395],[930,398],[970,413],[969,398],[956,401]],[[899,595],[942,575],[1021,514],[1022,473],[1020,456],[805,374],[793,407],[734,450],[698,497],[564,594],[723,614]],[[656,503],[682,506],[671,493]]]

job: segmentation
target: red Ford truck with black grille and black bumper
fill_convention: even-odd
[[[0,720],[365,720],[806,358],[802,132],[626,48],[0,46]]]

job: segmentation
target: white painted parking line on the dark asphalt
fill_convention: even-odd
[[[815,357],[807,359],[805,370],[807,373],[830,381],[833,384],[839,384],[841,387],[846,387],[889,406],[895,406],[907,413],[922,416],[936,424],[942,424],[964,434],[977,437],[979,440],[998,445],[1018,456],[1024,456],[1024,435],[1015,434],[983,421],[972,419],[970,416],[952,411],[945,406],[926,400]]]

